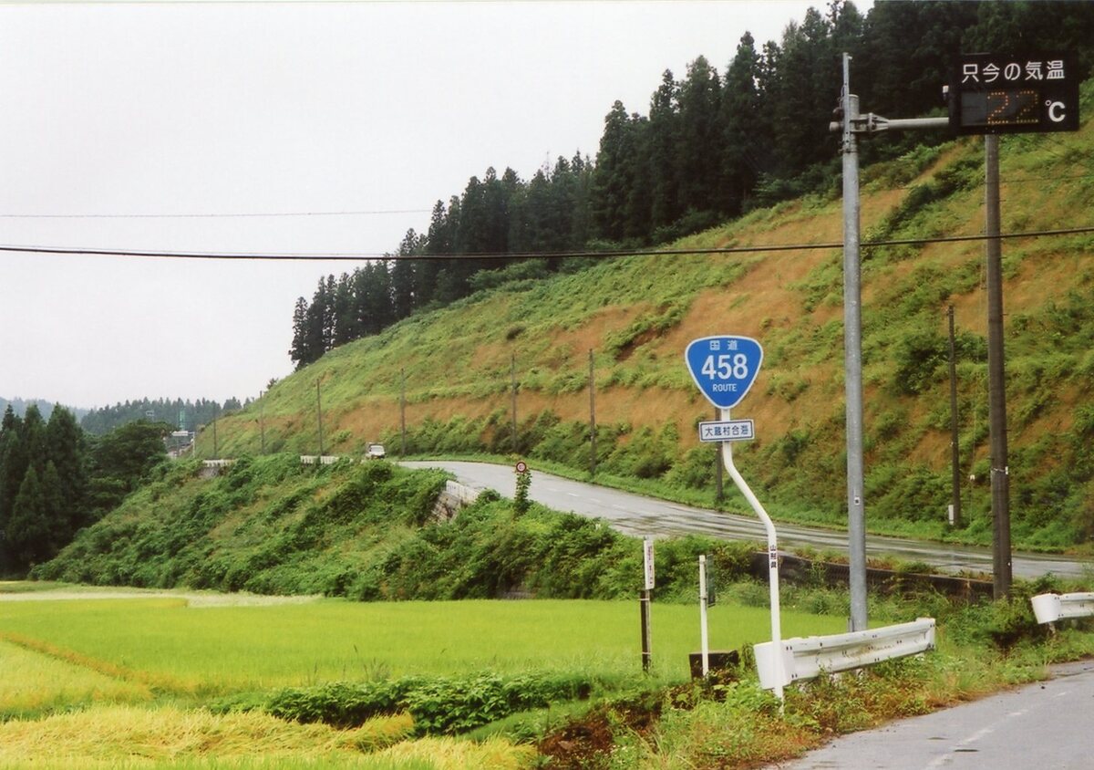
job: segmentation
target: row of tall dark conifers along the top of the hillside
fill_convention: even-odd
[[[388,258],[321,278],[311,302],[296,300],[290,356],[300,368],[418,309],[547,275],[567,264],[562,252],[666,243],[830,189],[839,154],[828,124],[843,51],[853,56],[863,112],[919,117],[944,113],[956,55],[1021,50],[1073,51],[1085,78],[1094,3],[888,0],[863,16],[833,0],[790,21],[780,42],[745,33],[721,72],[703,56],[683,78],[665,70],[644,115],[615,102],[595,159],[560,157],[531,180],[487,169],[438,200],[426,232],[408,231]],[[947,138],[908,133],[863,142],[863,159]],[[544,258],[527,258],[537,254]],[[454,255],[462,258],[445,258]]]

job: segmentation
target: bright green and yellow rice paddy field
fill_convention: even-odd
[[[19,590],[0,586],[7,598]],[[531,749],[504,740],[376,739],[408,734],[392,719],[337,731],[203,706],[409,674],[582,671],[636,686],[645,676],[637,601],[79,597],[46,590],[0,600],[0,767],[524,767]],[[714,648],[770,636],[764,608],[717,606],[709,622]],[[784,636],[837,633],[842,623],[782,616]],[[698,609],[654,604],[652,624],[652,678],[686,679]]]

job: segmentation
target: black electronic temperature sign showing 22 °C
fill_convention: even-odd
[[[1079,71],[1071,54],[959,56],[950,81],[957,134],[1079,130]]]

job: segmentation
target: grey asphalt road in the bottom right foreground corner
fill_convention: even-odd
[[[779,770],[1078,770],[1094,767],[1094,662],[973,703],[837,738]]]

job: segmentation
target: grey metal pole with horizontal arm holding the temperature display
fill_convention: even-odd
[[[859,134],[889,129],[946,128],[944,117],[894,119],[859,112],[851,93],[851,57],[843,54],[842,120],[829,125],[842,131],[843,154],[843,369],[847,393],[847,535],[850,556],[851,631],[866,630],[866,522],[862,498],[862,283],[859,223]]]

